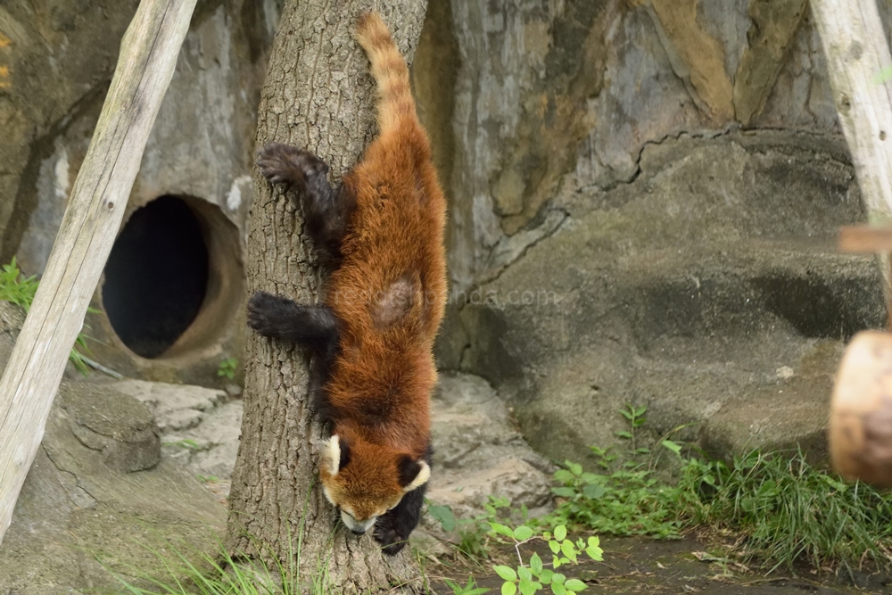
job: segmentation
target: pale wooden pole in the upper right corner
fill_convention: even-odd
[[[874,0],[812,0],[830,86],[871,223],[892,223],[892,56]],[[892,299],[888,255],[880,274]]]

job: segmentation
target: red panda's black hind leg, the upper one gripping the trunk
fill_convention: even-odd
[[[301,197],[307,231],[319,256],[340,259],[355,200],[343,185],[328,184],[328,164],[309,151],[282,143],[264,146],[257,164],[269,182],[290,186]]]

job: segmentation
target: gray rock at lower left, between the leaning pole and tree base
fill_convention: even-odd
[[[190,558],[212,549],[226,507],[176,462],[158,461],[155,430],[157,464],[132,470],[145,467],[151,449],[125,441],[138,440],[151,421],[142,403],[106,385],[62,386],[0,548],[0,592],[111,588],[118,583],[103,565],[128,576],[163,574],[147,545],[173,545]]]

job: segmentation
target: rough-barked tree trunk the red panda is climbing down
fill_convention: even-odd
[[[310,149],[340,177],[376,133],[373,80],[351,36],[354,24],[363,12],[380,12],[410,61],[426,4],[286,0],[260,99],[257,146],[278,141]],[[315,267],[301,211],[256,168],[254,187],[245,267],[249,292],[316,302],[325,273]],[[421,592],[409,548],[388,558],[370,533],[356,539],[338,530],[333,537],[335,511],[315,481],[323,428],[310,410],[308,362],[300,349],[254,334],[249,339],[227,548],[252,557],[274,554],[286,563],[300,544],[301,577],[311,580],[326,567],[326,591],[378,592],[405,583],[405,591]]]

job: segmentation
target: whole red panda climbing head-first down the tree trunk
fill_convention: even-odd
[[[326,498],[352,533],[374,525],[384,551],[396,554],[430,477],[446,202],[390,31],[369,13],[356,38],[376,79],[380,128],[359,163],[333,188],[328,165],[308,151],[270,144],[258,159],[271,183],[296,191],[314,247],[334,269],[325,304],[255,293],[248,324],[314,351],[317,408],[332,424],[319,463]]]

